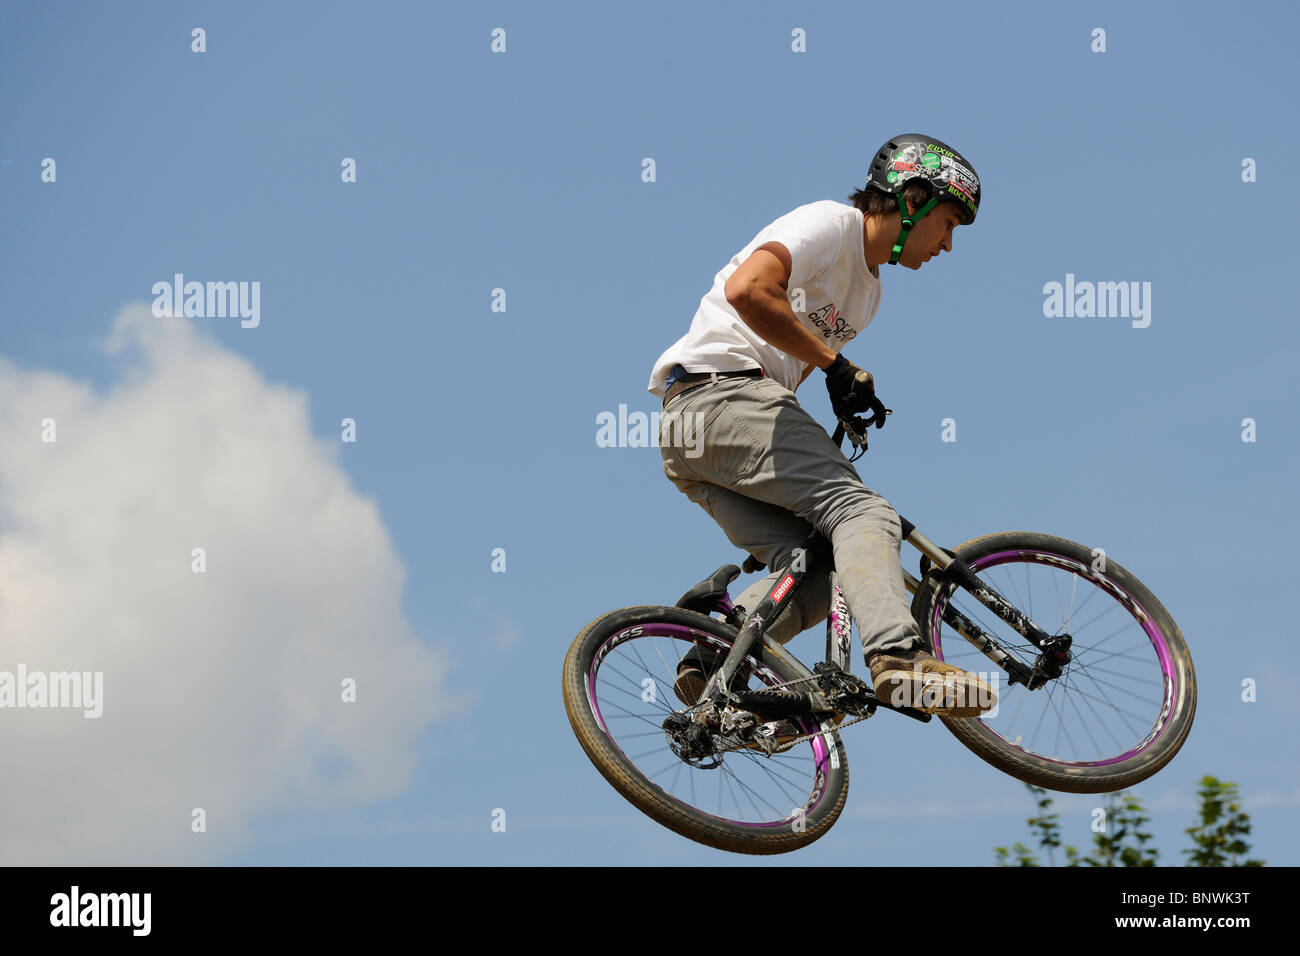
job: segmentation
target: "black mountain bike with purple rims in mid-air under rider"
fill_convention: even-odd
[[[836,445],[848,436],[858,449],[849,460],[866,453],[867,429],[890,412],[878,401],[871,416],[838,421]],[[940,715],[962,744],[1026,783],[1075,793],[1131,787],[1174,758],[1196,713],[1196,674],[1182,632],[1141,581],[1066,538],[998,532],[949,550],[900,518],[904,540],[922,555],[920,578],[904,570],[904,579],[931,653],[966,670],[992,662],[985,680],[1005,675],[994,710]],[[751,555],[744,570],[762,567]],[[724,564],[673,607],[595,618],[564,659],[564,709],[597,770],[653,819],[719,849],[784,853],[826,835],[848,796],[840,731],[878,710],[933,717],[924,698],[879,700],[850,674],[852,622],[823,536],[810,535],[783,571],[746,613],[727,591],[741,568]],[[826,659],[811,671],[766,635],[810,574],[831,575]],[[1062,618],[1054,632],[1036,623],[1030,594],[1045,580]],[[1076,605],[1079,588],[1087,596]],[[1089,607],[1095,598],[1100,606]],[[1117,607],[1118,622],[1092,637]],[[673,706],[663,688],[692,646],[725,658],[696,704]],[[1098,710],[1113,711],[1109,721]],[[1052,715],[1056,734],[1044,735]]]

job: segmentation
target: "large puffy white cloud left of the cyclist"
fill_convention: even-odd
[[[260,812],[402,792],[454,704],[339,442],[192,320],[108,347],[107,393],[0,356],[0,671],[104,674],[99,719],[0,709],[0,862],[218,861]]]

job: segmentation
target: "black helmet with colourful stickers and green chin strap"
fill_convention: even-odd
[[[909,215],[902,191],[914,179],[928,189],[930,202]],[[889,256],[890,265],[897,265],[911,228],[940,202],[954,203],[961,211],[962,225],[967,226],[979,211],[975,166],[948,143],[922,133],[904,133],[881,146],[871,160],[866,189],[898,198],[902,229]]]

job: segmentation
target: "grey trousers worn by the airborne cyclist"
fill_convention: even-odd
[[[924,646],[902,579],[898,514],[862,484],[793,392],[766,377],[690,389],[664,407],[659,450],[664,475],[768,568],[820,531],[863,654]],[[753,610],[775,583],[774,571],[736,604]],[[784,644],[826,620],[829,605],[828,575],[809,575],[768,633]]]

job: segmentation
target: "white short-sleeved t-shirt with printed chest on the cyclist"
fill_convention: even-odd
[[[762,339],[727,302],[723,287],[740,264],[764,242],[790,251],[790,308],[809,332],[838,352],[862,332],[880,308],[880,276],[867,268],[862,213],[853,206],[823,199],[768,224],[714,276],[714,287],[699,300],[690,330],[654,363],[649,390],[663,397],[673,365],[688,372],[738,372],[762,368],[793,392],[807,363]],[[797,298],[802,290],[802,302]]]

